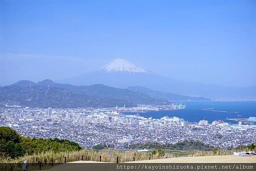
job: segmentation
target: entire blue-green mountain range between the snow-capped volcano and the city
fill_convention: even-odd
[[[13,90],[13,87],[16,87],[16,89]],[[32,89],[34,89],[34,91],[32,91]],[[52,92],[52,89],[54,89],[55,91]],[[44,92],[42,92],[42,90],[45,91],[45,95],[43,94]],[[132,90],[108,87],[103,84],[95,84],[91,86],[74,86],[71,84],[59,84],[55,83],[50,79],[38,81],[38,83],[34,83],[28,80],[21,80],[12,84],[11,86],[5,86],[0,89],[0,96],[2,96],[2,98],[0,98],[0,102],[17,102],[20,104],[28,105],[29,103],[26,100],[29,100],[30,98],[29,101],[34,100],[34,104],[32,104],[31,106],[38,107],[38,94],[36,93],[39,93],[40,97],[44,97],[43,99],[41,99],[42,103],[44,105],[49,105],[45,101],[45,99],[47,99],[48,97],[46,95],[48,91],[55,93],[56,96],[54,96],[54,94],[51,95],[51,98],[55,99],[55,101],[58,101],[59,97],[62,98],[63,105],[59,103],[54,103],[52,101],[57,106],[61,107],[65,106],[64,104],[67,104],[67,106],[74,107],[114,107],[116,105],[123,106],[124,104],[127,107],[134,107],[137,106],[137,104],[169,104],[169,101],[167,100],[154,99],[144,93],[134,92]],[[19,94],[20,97],[26,96],[26,98],[17,98],[16,94]],[[77,98],[77,100],[74,99],[75,97]],[[63,99],[66,99],[66,101],[63,101]],[[78,103],[78,105],[69,104],[68,100],[74,101],[74,103],[76,102]],[[95,105],[93,105],[93,103],[84,102],[88,100],[94,101]],[[83,103],[81,103],[81,101],[83,101]],[[101,102],[102,105],[99,104]]]

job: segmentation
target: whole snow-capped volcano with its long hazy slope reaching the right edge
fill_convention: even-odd
[[[115,59],[99,70],[58,81],[73,85],[104,84],[116,88],[141,86],[164,93],[204,96],[212,99],[255,99],[256,86],[225,87],[163,77],[137,67],[125,59]]]

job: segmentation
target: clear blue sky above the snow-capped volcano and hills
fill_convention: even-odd
[[[184,81],[256,85],[256,0],[0,0],[0,85],[115,58]]]

